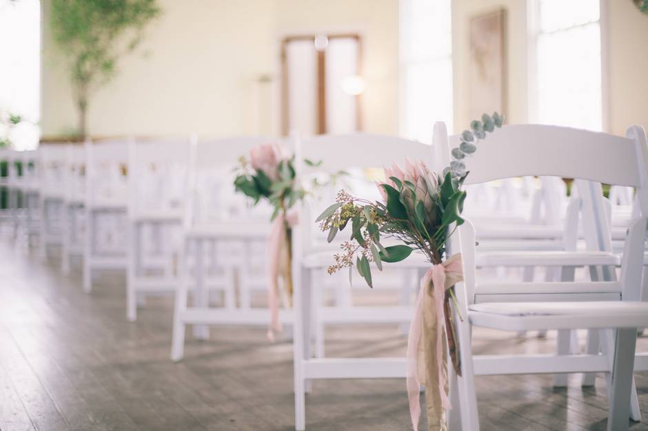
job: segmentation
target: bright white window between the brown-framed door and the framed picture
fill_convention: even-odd
[[[443,120],[452,133],[450,0],[401,0],[401,134],[431,142]]]

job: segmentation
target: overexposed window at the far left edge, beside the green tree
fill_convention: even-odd
[[[0,0],[0,140],[15,149],[39,142],[41,5],[38,0]],[[9,125],[9,116],[23,121]]]

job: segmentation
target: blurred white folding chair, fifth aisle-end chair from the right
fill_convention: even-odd
[[[85,143],[83,291],[97,269],[126,269],[128,141]]]

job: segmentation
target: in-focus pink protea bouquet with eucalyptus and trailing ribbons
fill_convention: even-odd
[[[329,242],[350,225],[350,240],[341,245],[343,253],[334,255],[329,273],[348,267],[351,276],[355,265],[372,286],[372,264],[382,270],[383,262],[400,262],[413,251],[423,254],[432,264],[421,280],[407,346],[407,392],[414,430],[418,429],[421,414],[421,382],[428,388],[429,429],[446,429],[445,410],[450,408],[448,350],[454,370],[461,375],[451,304],[456,305],[454,284],[463,280],[463,269],[460,255],[447,256],[445,246],[454,229],[464,221],[461,212],[466,192],[461,187],[468,172],[463,159],[474,153],[478,141],[487,132],[501,127],[503,121],[497,112],[473,121],[471,129],[461,134],[459,147],[452,149],[453,160],[441,176],[430,171],[423,161],[405,160],[405,169],[395,164],[391,169],[385,168],[386,182],[377,183],[384,202],[355,198],[341,190],[336,202],[316,219],[321,230],[328,232]],[[383,246],[383,238],[401,244]],[[425,369],[418,369],[419,361]]]

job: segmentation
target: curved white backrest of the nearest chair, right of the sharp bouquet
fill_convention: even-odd
[[[442,134],[436,136],[436,143],[443,140]],[[456,145],[447,138],[445,143],[448,153]],[[594,218],[598,235],[605,235],[605,229],[609,235],[601,182],[636,187],[642,209],[648,208],[648,147],[645,132],[638,126],[629,127],[625,138],[569,127],[505,126],[480,142],[465,165],[470,171],[466,184],[536,175],[589,180],[589,187],[580,190],[580,198],[583,213]],[[607,238],[600,240],[603,244]],[[474,246],[462,251],[474,254]],[[466,287],[470,300],[473,292],[468,283]]]

